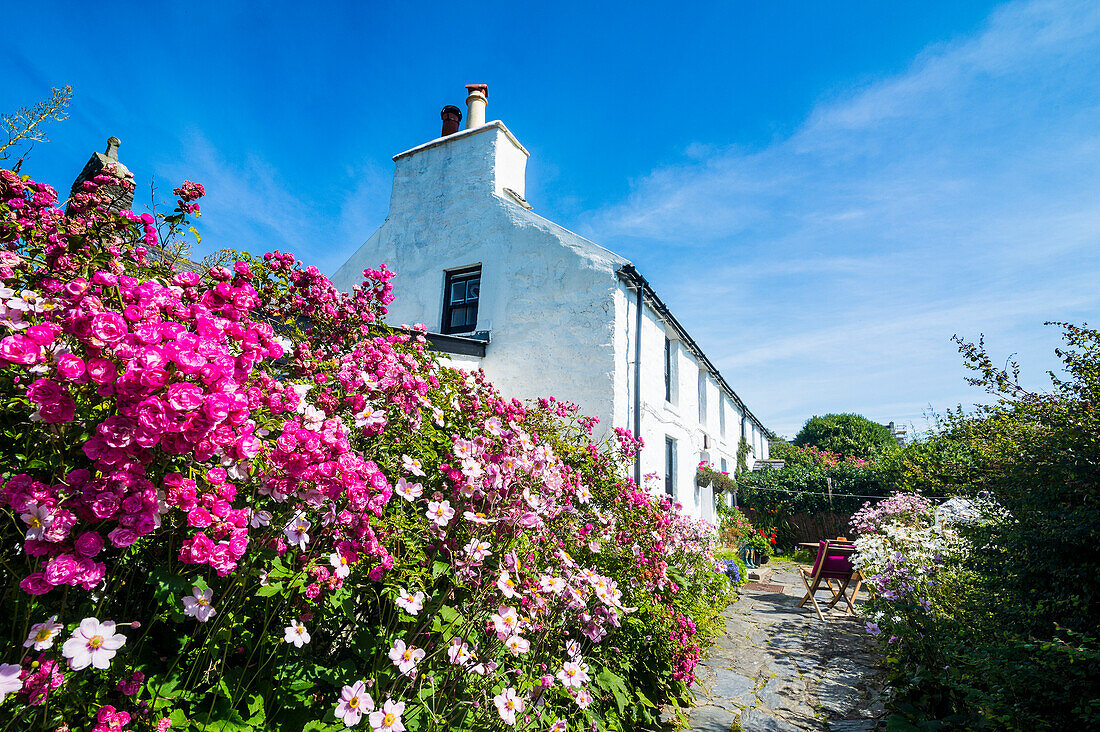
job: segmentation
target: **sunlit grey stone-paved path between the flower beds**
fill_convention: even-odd
[[[799,608],[805,588],[798,565],[772,561],[759,571],[761,582],[782,591],[743,589],[726,609],[726,635],[695,671],[690,729],[880,729],[881,671],[862,624],[836,609],[825,611],[822,623],[812,609]],[[827,597],[821,593],[818,602]]]

